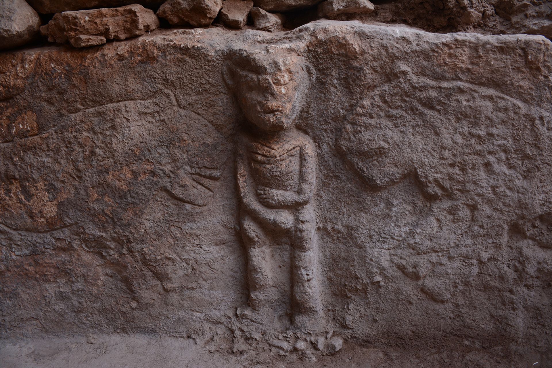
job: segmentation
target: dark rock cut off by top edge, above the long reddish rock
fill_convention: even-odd
[[[140,4],[156,8],[163,0],[29,0],[29,4],[39,13],[51,14],[94,8],[114,8],[130,4]]]

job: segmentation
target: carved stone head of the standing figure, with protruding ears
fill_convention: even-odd
[[[293,124],[311,83],[305,59],[282,50],[235,50],[224,77],[247,120],[264,131]]]

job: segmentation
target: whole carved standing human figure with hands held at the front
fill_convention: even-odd
[[[291,244],[293,323],[320,314],[316,275],[316,156],[312,140],[294,127],[310,76],[304,58],[281,52],[236,51],[225,71],[248,124],[238,136],[236,175],[241,232],[247,249],[250,306],[270,314],[272,244]]]

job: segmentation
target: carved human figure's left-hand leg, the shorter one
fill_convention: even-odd
[[[276,296],[270,284],[269,239],[261,226],[247,214],[242,215],[241,232],[247,251],[250,306],[256,311],[270,309]]]

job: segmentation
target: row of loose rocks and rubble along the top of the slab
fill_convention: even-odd
[[[29,4],[25,0],[0,4],[0,50],[39,39],[41,19],[37,12],[56,13],[49,24],[43,25],[43,40],[69,42],[75,47],[101,45],[151,31],[158,26],[154,12],[166,22],[163,26],[174,27],[217,23],[230,29],[274,32],[330,18],[406,23],[439,33],[526,33],[552,38],[552,2],[546,0],[430,0],[424,6],[418,0],[376,5],[369,0],[29,0]],[[132,17],[135,20],[130,20]]]

